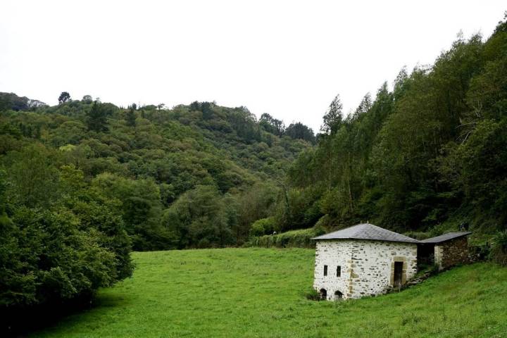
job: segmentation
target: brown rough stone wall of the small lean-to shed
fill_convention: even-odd
[[[435,244],[435,264],[440,269],[450,268],[456,264],[468,263],[468,239],[466,236]]]

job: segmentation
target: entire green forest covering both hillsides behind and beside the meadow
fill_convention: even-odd
[[[130,250],[241,246],[369,220],[397,232],[507,222],[507,22],[458,36],[318,134],[215,102],[118,107],[0,94],[0,306],[89,295]],[[507,237],[507,236],[506,236]]]

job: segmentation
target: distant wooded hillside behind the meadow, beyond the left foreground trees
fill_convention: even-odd
[[[243,244],[252,223],[273,215],[275,180],[310,146],[264,130],[244,107],[120,109],[89,99],[0,115],[9,199],[121,223],[136,250]],[[176,208],[192,213],[170,218]]]

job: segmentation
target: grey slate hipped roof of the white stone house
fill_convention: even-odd
[[[373,241],[387,241],[387,242],[404,242],[404,243],[419,243],[417,239],[403,236],[397,232],[386,230],[376,225],[365,223],[347,227],[343,230],[323,234],[322,236],[313,237],[312,239],[370,239]]]

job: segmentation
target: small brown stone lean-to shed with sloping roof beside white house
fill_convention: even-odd
[[[471,233],[449,232],[419,241],[419,260],[422,263],[438,265],[441,270],[468,263],[468,235]]]

